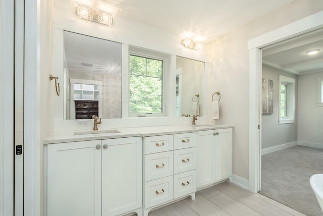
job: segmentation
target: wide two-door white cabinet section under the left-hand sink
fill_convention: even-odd
[[[48,216],[141,214],[141,137],[46,148]]]

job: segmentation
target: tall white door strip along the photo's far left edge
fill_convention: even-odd
[[[14,213],[14,14],[0,0],[0,215]]]

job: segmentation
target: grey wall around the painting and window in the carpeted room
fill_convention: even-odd
[[[291,77],[295,82],[295,123],[278,124],[279,119],[279,75]],[[297,141],[297,76],[278,69],[262,66],[262,78],[271,79],[274,82],[274,114],[262,114],[261,116],[261,149]]]

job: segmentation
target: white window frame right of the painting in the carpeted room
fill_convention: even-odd
[[[291,77],[279,76],[279,124],[290,124],[295,123],[295,79]],[[281,97],[281,86],[286,85],[286,95],[285,95],[285,113],[286,116],[282,117],[282,97]]]

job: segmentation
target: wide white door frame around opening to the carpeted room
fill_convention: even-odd
[[[323,11],[248,41],[249,49],[249,191],[261,187],[261,48],[323,27]]]

